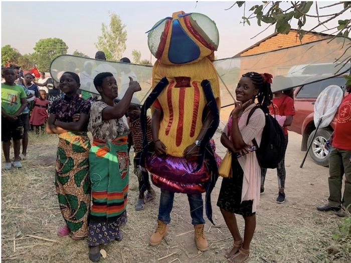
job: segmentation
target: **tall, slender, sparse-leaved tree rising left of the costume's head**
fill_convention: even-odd
[[[107,27],[104,23],[101,26],[101,36],[95,46],[98,50],[106,51],[111,54],[112,60],[119,60],[126,49],[127,31],[119,16],[115,13],[109,13],[110,24]]]

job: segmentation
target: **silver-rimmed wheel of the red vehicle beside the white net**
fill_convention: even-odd
[[[311,143],[313,135],[316,130],[312,131],[308,136],[307,146]],[[312,160],[322,166],[329,165],[329,152],[324,148],[325,142],[329,139],[332,131],[327,128],[318,129],[316,136],[313,139],[311,148],[309,149],[309,155]]]

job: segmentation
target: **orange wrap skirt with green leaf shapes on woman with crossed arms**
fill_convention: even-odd
[[[88,235],[90,142],[86,133],[59,134],[55,185],[61,213],[75,236]]]

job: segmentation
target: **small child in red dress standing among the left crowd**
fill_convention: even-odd
[[[36,133],[39,134],[40,127],[42,131],[45,130],[45,123],[48,120],[48,105],[49,101],[46,99],[47,94],[45,90],[39,91],[39,98],[34,99],[34,106],[31,115],[30,124],[36,130]]]

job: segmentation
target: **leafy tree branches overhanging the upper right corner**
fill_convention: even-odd
[[[337,2],[328,6],[318,7],[318,2],[305,2],[305,1],[297,1],[297,2],[263,2],[261,5],[253,5],[250,8],[250,15],[246,17],[245,10],[246,10],[246,3],[247,2],[235,2],[229,9],[237,5],[239,8],[244,6],[244,15],[242,17],[242,23],[248,24],[250,26],[250,20],[256,19],[257,25],[261,27],[261,23],[267,24],[268,26],[262,31],[266,31],[269,27],[275,25],[275,31],[281,34],[289,34],[291,27],[290,24],[292,21],[297,22],[297,30],[298,30],[298,37],[301,40],[306,33],[312,32],[316,29],[323,27],[324,30],[320,31],[320,33],[326,33],[330,35],[336,36],[343,36],[345,38],[348,37],[351,31],[351,19],[346,20],[338,20],[338,26],[333,28],[328,28],[326,24],[330,21],[336,21],[336,19],[344,14],[346,11],[349,12],[351,9],[351,2]],[[316,14],[311,14],[311,8],[315,5]],[[320,2],[319,2],[320,4]],[[284,8],[282,8],[282,6]],[[339,12],[332,13],[328,12],[329,14],[326,15],[319,15],[320,10],[328,10],[328,8],[337,6],[339,8]],[[229,10],[227,9],[227,10]],[[330,10],[330,9],[329,9]],[[347,13],[345,13],[347,14]],[[316,18],[317,25],[305,31],[303,27],[306,24],[307,19]],[[259,34],[261,34],[260,32]],[[257,34],[256,36],[258,36]],[[255,37],[256,37],[255,36]],[[347,50],[351,49],[351,45],[346,48],[344,54],[346,54]],[[341,56],[342,57],[342,56]],[[341,58],[337,58],[336,61],[339,61]],[[351,55],[347,56],[345,59],[343,58],[342,61],[339,63],[343,63],[343,66],[346,65],[348,62],[351,61]],[[342,66],[342,67],[343,67]]]

